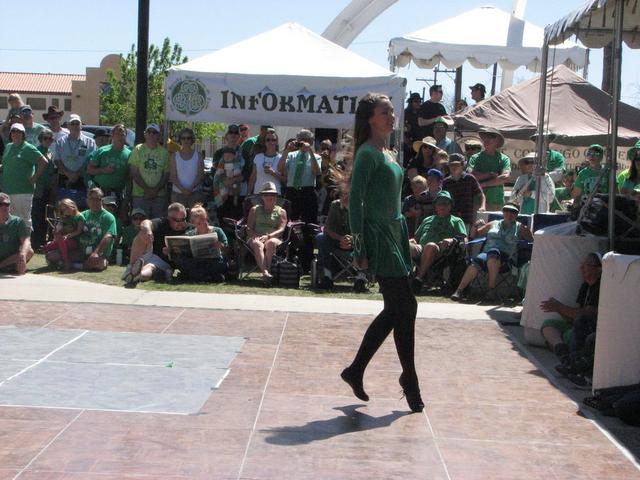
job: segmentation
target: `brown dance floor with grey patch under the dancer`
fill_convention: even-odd
[[[495,322],[418,319],[426,410],[371,317],[0,301],[0,480],[640,479]]]

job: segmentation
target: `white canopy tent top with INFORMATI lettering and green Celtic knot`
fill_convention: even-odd
[[[406,81],[296,23],[172,67],[168,120],[351,128],[358,100],[385,93],[396,111]]]

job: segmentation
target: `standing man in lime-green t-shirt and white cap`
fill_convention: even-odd
[[[149,218],[159,218],[166,209],[169,180],[169,154],[160,145],[160,127],[150,123],[144,130],[144,143],[136,145],[129,157],[129,176],[133,188],[133,208],[141,208]]]

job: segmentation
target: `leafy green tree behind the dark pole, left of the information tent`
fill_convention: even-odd
[[[161,47],[149,46],[149,91],[147,96],[147,119],[149,123],[164,121],[164,78],[167,70],[186,62],[182,47],[171,46],[165,38]],[[131,127],[136,122],[136,71],[135,45],[126,56],[120,57],[120,72],[107,71],[107,81],[100,93],[100,123],[113,125],[124,123]]]

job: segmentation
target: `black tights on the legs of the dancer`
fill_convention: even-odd
[[[364,334],[351,369],[363,374],[380,345],[393,330],[404,381],[418,390],[418,376],[414,362],[415,323],[418,303],[407,277],[377,277],[384,309],[371,322]]]

